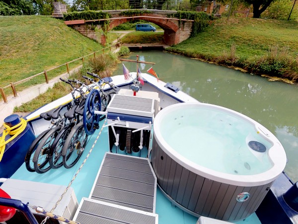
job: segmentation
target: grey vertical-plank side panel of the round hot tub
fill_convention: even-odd
[[[243,220],[256,211],[273,183],[241,187],[210,180],[174,161],[154,137],[152,146],[151,163],[158,185],[173,201],[197,215],[225,221]],[[250,198],[237,202],[236,196],[243,192],[248,192]]]

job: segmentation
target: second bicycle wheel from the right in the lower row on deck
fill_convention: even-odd
[[[55,138],[55,141],[49,152],[50,167],[52,169],[58,169],[59,167],[63,166],[63,158],[61,154],[62,148],[73,127],[74,123],[70,123],[69,125],[65,126]]]

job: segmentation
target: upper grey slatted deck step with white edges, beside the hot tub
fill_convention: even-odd
[[[155,196],[149,159],[107,152],[89,198],[155,213]]]

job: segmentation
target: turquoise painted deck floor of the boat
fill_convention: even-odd
[[[102,122],[100,123],[102,126]],[[90,138],[85,151],[83,152],[82,157],[78,161],[78,163],[71,169],[66,169],[61,167],[56,170],[50,170],[44,174],[38,173],[30,173],[26,170],[25,164],[23,164],[16,172],[13,174],[11,178],[19,179],[19,180],[27,180],[27,181],[35,181],[42,183],[50,183],[56,185],[64,185],[67,186],[69,182],[72,180],[74,174],[77,169],[85,159],[87,153],[89,152],[95,138],[97,137],[99,131],[96,131]],[[102,162],[102,158],[105,152],[108,151],[108,128],[103,128],[99,139],[90,154],[88,160],[84,164],[80,173],[74,180],[72,187],[74,188],[74,192],[78,203],[81,201],[82,197],[89,197],[91,188],[93,186],[93,182],[96,178],[97,172],[99,170],[100,164]],[[143,152],[146,154],[147,152]],[[23,202],[27,203],[27,202]],[[35,205],[38,206],[38,205]],[[170,201],[168,201],[162,193],[157,189],[156,194],[156,213],[158,214],[159,224],[196,224],[198,218],[189,215],[188,213],[183,212],[179,208],[172,208]],[[260,224],[257,216],[255,214],[248,217],[246,220],[241,222],[236,222],[236,224]]]

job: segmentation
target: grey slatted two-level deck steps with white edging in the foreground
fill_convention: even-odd
[[[107,152],[89,198],[74,220],[81,224],[157,224],[157,180],[149,159]]]

